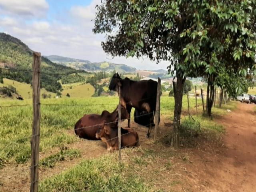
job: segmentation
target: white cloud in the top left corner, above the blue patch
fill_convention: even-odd
[[[46,0],[1,0],[2,14],[40,18],[46,14],[49,5]]]

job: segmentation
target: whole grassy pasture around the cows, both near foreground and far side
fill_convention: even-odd
[[[89,148],[94,148],[90,145],[94,145],[96,142],[88,142],[90,145],[83,146],[84,140],[75,136],[73,130],[76,121],[84,114],[101,114],[102,110],[112,112],[118,104],[118,97],[72,98],[72,94],[70,96],[71,98],[63,97],[60,99],[41,100],[40,178],[42,180],[40,180],[40,191],[81,191],[83,189],[86,189],[86,191],[95,191],[96,189],[100,189],[100,191],[161,191],[161,187],[156,183],[148,182],[153,178],[147,176],[144,167],[156,160],[161,161],[166,154],[156,149],[147,149],[146,146],[156,145],[161,147],[170,142],[168,136],[172,127],[174,98],[168,96],[162,96],[161,98],[161,126],[166,127],[162,141],[155,143],[152,139],[146,140],[144,136],[140,135],[142,146],[135,149],[122,150],[123,160],[119,164],[117,160],[118,153],[104,154],[106,150],[101,142],[97,142],[98,145],[101,144],[97,146],[97,149],[100,150],[99,153],[102,155],[98,157],[99,154],[94,152],[96,154],[92,157],[97,158],[88,158],[90,157]],[[0,106],[21,104],[32,104],[32,100],[0,100]],[[70,106],[48,106],[44,104],[64,104]],[[86,106],[94,104],[96,105]],[[190,98],[190,114],[192,114],[194,120],[188,118],[187,108],[187,99],[184,96],[182,107],[184,135],[191,136],[196,132],[196,134],[202,133],[210,136],[224,132],[224,128],[221,125],[201,115],[201,100],[198,99],[198,114],[196,114],[195,99]],[[236,108],[236,103],[234,102],[223,105],[222,109],[213,108],[213,117],[221,116],[226,113],[226,109],[234,110],[234,108]],[[133,112],[132,110],[131,122],[133,122]],[[200,122],[199,127],[198,122]],[[3,178],[5,178],[6,174],[9,174],[8,171],[12,170],[12,167],[18,166],[19,168],[20,166],[28,167],[30,165],[31,126],[32,106],[0,108],[0,170],[2,169],[4,174],[0,174],[0,191],[10,190],[8,186],[1,190],[1,186],[6,186]],[[175,152],[172,150],[169,152],[170,156],[168,158],[175,155]],[[166,170],[172,168],[170,162],[163,161],[164,165],[162,165],[162,168]],[[76,162],[76,164],[70,165],[68,162]],[[62,172],[58,167],[63,165],[62,168],[66,169],[66,164],[68,164],[67,170]],[[141,170],[143,174],[133,172],[134,166],[138,168],[138,171]],[[58,171],[55,170],[57,168]],[[52,169],[52,171],[49,169]],[[48,177],[49,175],[51,177]],[[20,191],[28,189],[29,172],[26,172],[25,176],[28,180],[25,182],[27,185],[21,184]],[[1,183],[1,178],[3,183]]]

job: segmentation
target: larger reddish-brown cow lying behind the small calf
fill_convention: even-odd
[[[121,107],[121,120],[130,118],[127,110],[124,107]],[[116,108],[112,113],[104,110],[101,115],[90,114],[84,115],[78,122],[75,124],[75,133],[80,138],[85,138],[89,140],[100,140],[96,138],[95,134],[102,125],[102,122],[105,122],[112,128],[117,128],[118,124],[118,108]],[[112,123],[111,123],[112,122]]]

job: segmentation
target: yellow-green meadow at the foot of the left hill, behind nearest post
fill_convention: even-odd
[[[33,90],[32,90],[32,87],[30,86],[30,84],[20,83],[18,81],[6,79],[6,78],[4,78],[4,84],[0,83],[0,87],[3,87],[3,86],[8,87],[8,85],[16,88],[17,93],[20,94],[22,96],[22,98],[24,98],[24,99],[32,98]],[[48,96],[50,94],[51,97],[54,97],[56,95],[55,93],[46,91],[44,88],[42,88],[40,91],[41,91],[41,95],[47,94],[47,96]],[[16,99],[16,98],[14,98],[14,99]]]

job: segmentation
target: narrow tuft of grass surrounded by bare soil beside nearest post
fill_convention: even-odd
[[[81,156],[81,152],[80,150],[77,150],[77,149],[60,150],[60,152],[56,154],[52,154],[40,160],[40,165],[48,168],[53,168],[57,162],[64,161],[64,160],[72,160],[80,156]]]

